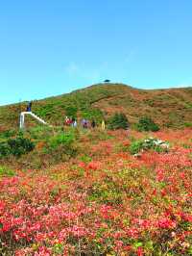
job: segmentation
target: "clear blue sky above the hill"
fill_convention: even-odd
[[[110,79],[192,85],[191,0],[0,1],[0,105]]]

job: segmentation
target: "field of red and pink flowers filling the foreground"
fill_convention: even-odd
[[[2,176],[0,255],[192,255],[192,130],[157,132],[170,151],[140,158],[128,148],[145,135],[126,133]]]

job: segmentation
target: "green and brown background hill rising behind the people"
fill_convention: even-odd
[[[17,127],[18,115],[25,109],[26,102],[0,107],[0,128]],[[99,84],[33,104],[33,112],[53,125],[61,125],[66,112],[99,120],[120,111],[131,123],[139,116],[150,115],[164,127],[191,125],[192,88],[137,90],[123,84]],[[31,124],[33,120],[29,119]]]

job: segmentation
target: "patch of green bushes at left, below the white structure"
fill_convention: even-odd
[[[0,165],[50,166],[68,161],[78,152],[79,132],[70,127],[63,132],[60,128],[36,126],[22,132],[8,130],[2,134]]]

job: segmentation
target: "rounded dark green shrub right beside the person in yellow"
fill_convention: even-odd
[[[108,121],[108,128],[110,130],[127,129],[128,127],[128,118],[123,113],[116,113]]]

